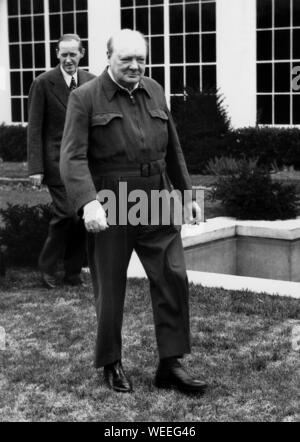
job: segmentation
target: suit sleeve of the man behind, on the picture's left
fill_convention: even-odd
[[[29,175],[44,173],[43,127],[45,91],[40,81],[31,85],[28,97],[27,161]]]

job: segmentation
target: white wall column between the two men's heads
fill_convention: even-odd
[[[107,65],[106,43],[121,27],[120,0],[89,0],[89,68],[99,75]]]

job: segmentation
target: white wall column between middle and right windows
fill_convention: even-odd
[[[217,1],[217,84],[234,128],[256,124],[256,1]]]

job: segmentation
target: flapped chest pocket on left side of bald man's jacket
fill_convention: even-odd
[[[91,149],[97,158],[114,156],[124,149],[123,114],[107,112],[91,117]]]

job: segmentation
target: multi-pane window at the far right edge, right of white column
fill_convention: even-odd
[[[300,81],[295,87],[300,72],[299,17],[299,0],[257,0],[259,124],[300,124]]]

